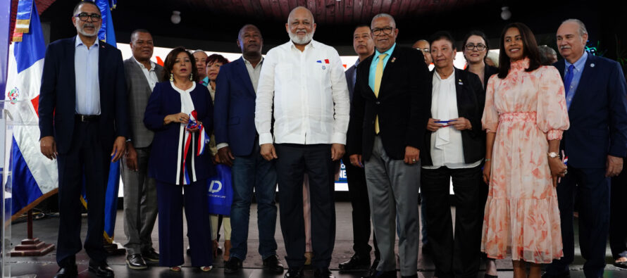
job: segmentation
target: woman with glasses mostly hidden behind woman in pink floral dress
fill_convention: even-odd
[[[498,68],[495,68],[491,65],[488,65],[486,61],[488,60],[488,52],[490,51],[490,45],[488,44],[488,39],[485,37],[483,32],[473,30],[466,34],[464,38],[464,43],[461,45],[461,52],[464,53],[464,58],[466,58],[466,68],[464,69],[466,72],[472,72],[476,74],[481,80],[481,84],[483,88],[488,85],[488,80],[490,76],[495,75],[499,72]],[[481,108],[483,110],[483,107]],[[483,209],[485,208],[485,201],[488,200],[488,184],[485,182],[481,182],[479,190],[479,198],[480,201],[479,209],[477,210],[478,219],[483,220]],[[478,230],[477,238],[480,238],[480,229]],[[482,255],[485,258],[485,254]],[[485,278],[496,278],[497,277],[497,266],[495,264],[495,260],[490,258],[485,258]]]

